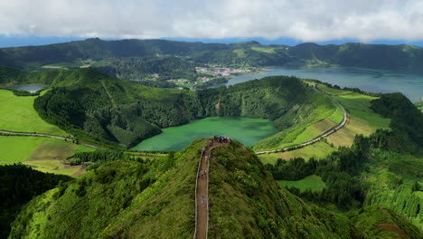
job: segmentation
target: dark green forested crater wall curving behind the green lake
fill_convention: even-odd
[[[298,124],[299,134],[302,127],[334,112],[330,100],[294,77],[268,77],[203,91],[170,91],[118,81],[93,69],[62,72],[52,82],[52,90],[34,101],[34,108],[42,119],[80,140],[124,147],[193,119],[269,119],[278,130]],[[279,136],[271,143],[279,144],[282,139]]]

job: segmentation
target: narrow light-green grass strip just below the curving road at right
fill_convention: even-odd
[[[296,150],[291,150],[287,152],[280,153],[270,153],[258,155],[263,164],[272,164],[274,165],[277,162],[278,158],[289,159],[301,157],[305,160],[310,158],[324,158],[334,152],[336,148],[331,147],[329,144],[324,141],[316,142],[315,144],[309,145],[305,148],[298,148]]]

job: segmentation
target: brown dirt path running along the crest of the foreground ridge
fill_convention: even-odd
[[[202,154],[197,172],[197,183],[195,188],[195,233],[194,239],[206,239],[209,229],[209,160],[211,149],[224,146],[224,143],[213,141],[211,147]],[[202,175],[201,172],[206,172]],[[202,201],[203,196],[203,201]]]

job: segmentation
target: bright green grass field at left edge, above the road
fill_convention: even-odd
[[[0,90],[0,129],[67,136],[65,131],[40,118],[33,109],[35,98]]]

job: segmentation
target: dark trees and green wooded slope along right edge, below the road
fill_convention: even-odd
[[[423,181],[416,169],[421,167],[421,159],[416,157],[421,155],[418,125],[423,114],[400,94],[381,95],[371,101],[371,109],[391,118],[390,131],[378,129],[369,138],[357,136],[352,148],[339,148],[318,161],[278,159],[267,167],[273,177],[281,180],[320,176],[327,186],[321,193],[288,188],[306,200],[341,209],[383,205],[422,228],[419,207],[423,200],[419,195]]]

